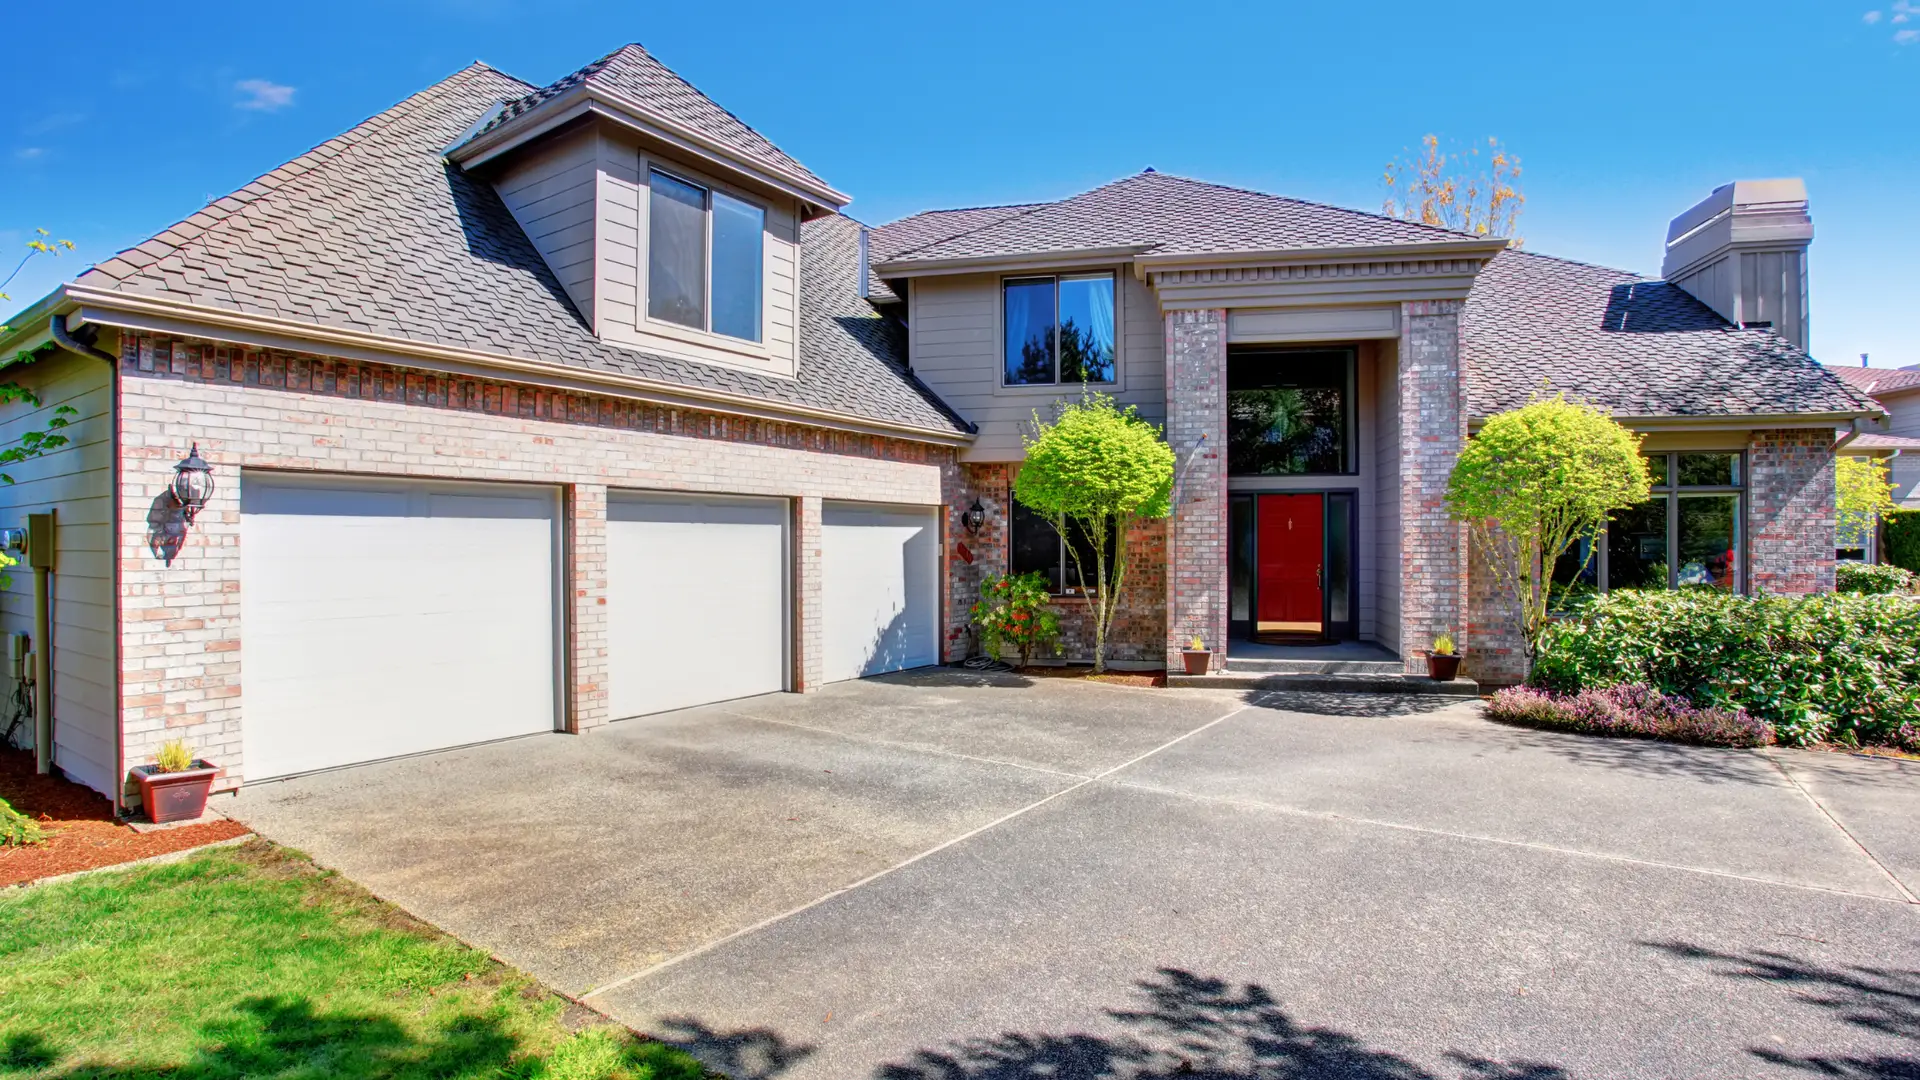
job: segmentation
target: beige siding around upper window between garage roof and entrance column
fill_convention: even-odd
[[[1165,325],[1152,290],[1116,269],[1119,369],[1114,396],[1165,423]],[[908,292],[908,357],[935,394],[979,425],[962,461],[1018,461],[1033,411],[1073,400],[1079,386],[1000,386],[1000,275],[916,279]]]

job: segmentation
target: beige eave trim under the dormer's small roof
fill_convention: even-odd
[[[447,150],[447,160],[461,169],[472,169],[586,113],[605,117],[618,127],[657,138],[707,161],[726,165],[735,173],[785,190],[787,194],[820,209],[837,211],[852,202],[852,196],[835,190],[826,183],[803,177],[791,169],[781,169],[778,165],[747,158],[716,138],[701,135],[699,131],[649,110],[634,98],[586,83],[540,102],[493,131],[486,131],[459,146],[453,146]]]

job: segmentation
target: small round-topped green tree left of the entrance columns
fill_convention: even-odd
[[[1127,532],[1135,521],[1173,511],[1173,448],[1133,405],[1121,409],[1106,394],[1060,405],[1050,423],[1035,413],[1033,429],[1014,498],[1066,540],[1092,613],[1092,669],[1106,671],[1106,632],[1127,578]]]

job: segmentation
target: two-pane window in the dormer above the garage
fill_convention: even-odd
[[[659,169],[647,192],[647,317],[760,340],[766,209]]]

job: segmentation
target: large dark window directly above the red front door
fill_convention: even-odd
[[[1227,356],[1227,473],[1352,473],[1354,350],[1236,348]]]

